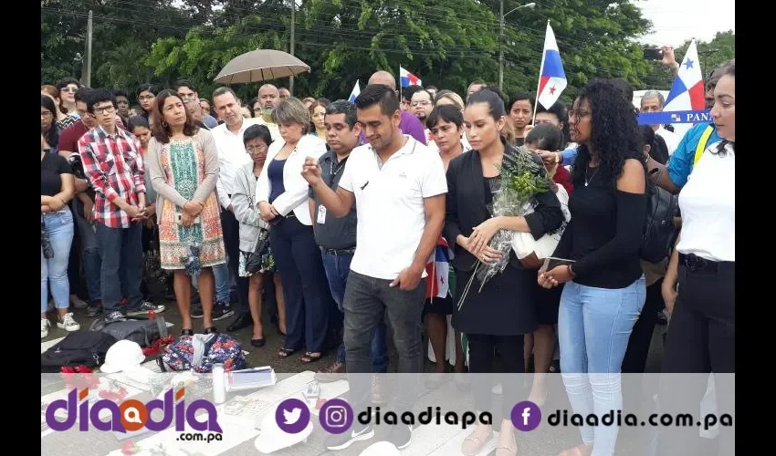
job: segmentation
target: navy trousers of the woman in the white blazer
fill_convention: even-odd
[[[286,295],[286,340],[283,347],[322,352],[329,335],[334,300],[315,244],[312,226],[284,218],[269,230],[269,245]]]

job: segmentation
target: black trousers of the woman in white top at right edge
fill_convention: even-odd
[[[735,380],[729,375],[736,371],[735,263],[719,263],[715,272],[692,271],[680,263],[678,273],[678,296],[668,326],[658,393],[660,412],[700,417],[698,405],[707,390],[706,374],[713,371],[717,415],[728,413],[735,422]],[[730,428],[719,430],[718,454],[735,454]],[[697,427],[661,431],[659,454],[699,454]]]

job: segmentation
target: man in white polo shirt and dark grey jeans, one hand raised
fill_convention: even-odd
[[[423,370],[425,264],[445,222],[447,182],[439,154],[399,129],[401,110],[393,89],[367,86],[355,104],[369,145],[352,150],[337,191],[320,179],[317,159],[308,157],[302,175],[332,214],[342,217],[356,203],[356,250],[343,306],[349,399],[358,414],[369,405],[365,374],[372,372],[372,334],[383,315],[393,329],[399,372]],[[417,377],[401,376],[394,409],[411,410],[416,399]],[[351,432],[331,435],[326,447],[341,450],[373,436],[372,425],[356,420]],[[388,440],[403,449],[411,437],[409,426],[398,425]]]

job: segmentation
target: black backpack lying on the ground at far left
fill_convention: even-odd
[[[40,354],[40,372],[58,373],[66,366],[98,368],[105,362],[108,348],[115,343],[116,337],[97,331],[70,333],[57,345]]]

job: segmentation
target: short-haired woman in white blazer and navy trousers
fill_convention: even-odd
[[[305,159],[323,155],[326,144],[307,134],[309,111],[297,98],[281,101],[272,110],[272,121],[282,140],[267,151],[256,201],[261,219],[270,223],[269,244],[286,290],[286,340],[278,357],[288,358],[305,347],[299,360],[306,364],[323,356],[335,308],[312,232],[308,183],[301,175]]]

